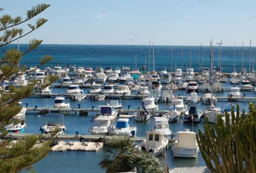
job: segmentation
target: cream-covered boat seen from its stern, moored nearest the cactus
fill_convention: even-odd
[[[174,157],[196,158],[199,153],[196,133],[189,129],[173,133],[175,142],[171,148]]]

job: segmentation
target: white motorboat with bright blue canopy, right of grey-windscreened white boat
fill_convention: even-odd
[[[130,136],[137,133],[137,127],[130,127],[128,118],[119,118],[116,127],[111,130],[113,136]]]

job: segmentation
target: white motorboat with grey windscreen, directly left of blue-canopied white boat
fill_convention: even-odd
[[[115,126],[111,125],[111,119],[107,116],[98,116],[94,119],[93,126],[89,127],[91,135],[109,135]]]

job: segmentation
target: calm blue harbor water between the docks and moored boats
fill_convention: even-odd
[[[229,83],[223,83],[224,87],[231,87]],[[67,88],[52,88],[53,93],[65,93]],[[87,93],[89,89],[83,89],[84,93]],[[134,92],[136,93],[136,92]],[[188,93],[184,90],[178,91],[178,93],[181,93],[181,96],[187,96]],[[242,92],[243,94],[246,94],[246,97],[255,97],[254,92]],[[227,96],[228,91],[225,91],[223,93],[216,93],[216,96]],[[198,96],[202,96],[203,93],[199,92]],[[78,104],[81,102],[74,102],[69,101],[68,98],[66,98],[66,101],[70,103],[71,107],[78,107]],[[39,97],[29,97],[22,100],[23,105],[25,103],[28,103],[29,107],[34,107],[35,105],[38,105],[38,107],[53,107],[53,98],[39,98]],[[141,104],[141,100],[133,100],[133,99],[122,99],[121,100],[123,108],[127,109],[128,105],[131,105],[131,109],[135,109]],[[227,101],[218,101],[216,106],[221,107],[223,109],[224,105],[227,104]],[[248,103],[249,102],[233,102],[235,105],[240,104],[240,109],[245,109],[245,112],[248,112]],[[82,101],[82,107],[91,107],[94,105],[95,107],[100,105],[106,105],[107,100],[105,101],[90,101],[89,99],[85,99]],[[160,110],[166,109],[167,104],[166,103],[159,103]],[[203,103],[200,103],[198,108],[200,110],[204,110],[208,105],[205,105]],[[65,131],[66,134],[74,134],[75,131],[79,130],[80,134],[86,134],[88,132],[88,129],[90,126],[94,123],[94,118],[96,116],[96,113],[89,113],[89,115],[86,116],[79,116],[79,114],[75,114],[70,112],[69,114],[66,114],[64,112],[64,121],[65,126],[67,127],[67,130]],[[43,115],[40,115],[38,112],[27,112],[24,119],[27,123],[27,130],[28,133],[37,133],[39,132],[39,129],[42,125],[43,121]],[[112,123],[115,124],[116,120]],[[154,121],[153,117],[149,119],[149,121],[146,122],[135,122],[135,119],[129,118],[129,124],[130,126],[135,126],[138,128],[138,134],[139,137],[144,137],[145,132],[150,131],[153,127]],[[178,131],[184,131],[185,128],[189,128],[190,131],[198,132],[198,128],[203,130],[203,124],[204,119],[201,123],[198,124],[187,124],[183,123],[182,118],[178,122],[170,122],[170,129],[172,132],[178,132]],[[98,172],[103,173],[104,170],[102,170],[98,163],[101,160],[101,157],[104,155],[104,152],[102,150],[99,150],[98,152],[79,152],[79,151],[65,151],[65,152],[50,152],[46,158],[44,158],[42,161],[35,164],[35,168],[37,169],[38,173],[44,173],[44,172],[77,172],[77,173],[90,173],[90,172]],[[164,163],[169,163],[170,168],[175,167],[192,167],[192,166],[205,166],[205,162],[203,161],[201,153],[198,154],[197,158],[174,158],[173,153],[171,152],[170,148],[166,150],[165,155],[160,155],[158,157],[160,161]],[[47,165],[47,166],[46,166]],[[56,165],[63,165],[58,166]],[[56,169],[56,170],[55,170]]]

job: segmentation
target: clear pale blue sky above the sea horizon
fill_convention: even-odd
[[[33,20],[46,18],[29,39],[43,44],[255,46],[255,0],[4,0],[1,16],[21,15],[32,5],[51,6]],[[21,27],[21,26],[20,26]],[[2,35],[2,33],[1,33]]]

